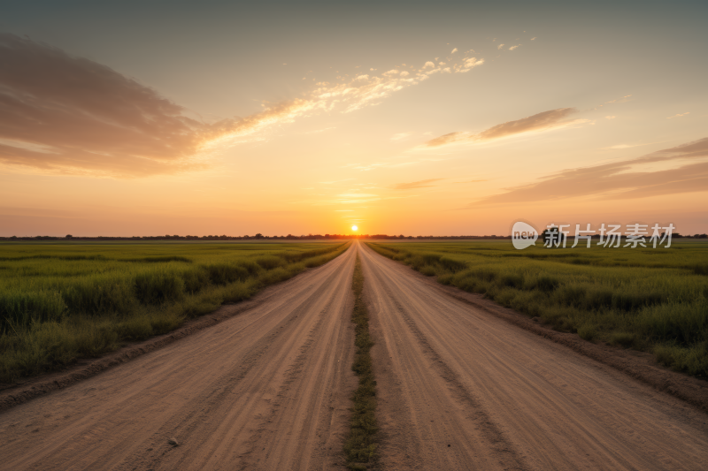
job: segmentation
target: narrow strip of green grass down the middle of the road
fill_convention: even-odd
[[[359,385],[351,398],[354,406],[351,408],[351,428],[349,437],[344,442],[344,452],[347,467],[366,470],[367,465],[373,465],[376,460],[376,432],[379,427],[376,422],[376,380],[373,377],[371,360],[373,339],[369,334],[369,312],[361,295],[364,289],[364,274],[358,254],[351,289],[355,296],[351,322],[356,326],[354,343],[357,346],[351,369],[357,374]]]

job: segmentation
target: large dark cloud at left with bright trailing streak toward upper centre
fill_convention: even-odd
[[[264,141],[274,126],[373,106],[428,80],[425,72],[404,72],[318,82],[303,97],[264,103],[246,118],[204,122],[110,67],[14,34],[0,34],[0,64],[0,165],[112,178],[204,169],[222,148]]]

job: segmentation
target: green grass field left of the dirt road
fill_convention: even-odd
[[[325,263],[347,243],[0,244],[0,382],[96,357]]]

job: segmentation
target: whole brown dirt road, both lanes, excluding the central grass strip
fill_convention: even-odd
[[[0,414],[0,469],[343,468],[357,250],[382,469],[708,468],[705,414],[355,243],[255,308]]]

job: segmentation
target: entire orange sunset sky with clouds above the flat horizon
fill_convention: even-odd
[[[708,231],[708,3],[254,4],[0,4],[0,236]]]

